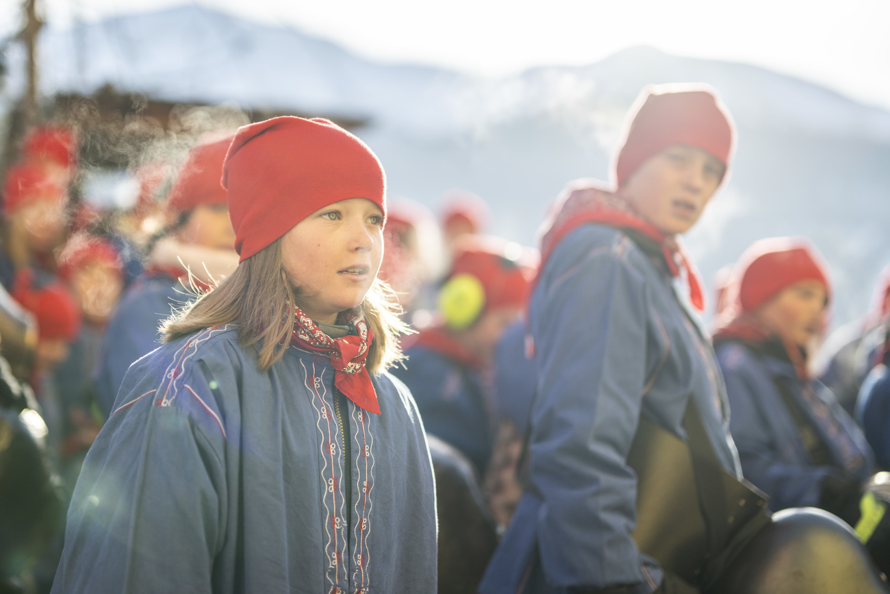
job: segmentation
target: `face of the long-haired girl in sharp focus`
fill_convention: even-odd
[[[384,215],[363,198],[315,211],[281,238],[281,261],[299,291],[303,313],[333,324],[357,307],[374,282],[384,255]]]

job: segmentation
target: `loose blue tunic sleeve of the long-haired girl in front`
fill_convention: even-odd
[[[159,405],[151,390],[163,370],[149,362],[127,374],[121,396],[132,404],[111,416],[86,457],[53,593],[211,591],[226,517],[223,436],[188,407]],[[189,386],[212,402],[190,369]]]

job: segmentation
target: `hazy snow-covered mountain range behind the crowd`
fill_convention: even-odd
[[[40,51],[46,94],[110,83],[171,102],[367,119],[357,133],[383,160],[393,195],[434,208],[449,188],[475,191],[492,207],[490,231],[528,244],[564,183],[608,179],[643,85],[705,82],[739,130],[730,182],[686,238],[707,281],[758,238],[805,235],[829,260],[842,322],[862,312],[890,262],[890,112],[745,64],[638,47],[486,80],[367,61],[198,6],[50,28]],[[8,94],[21,80],[13,54]]]

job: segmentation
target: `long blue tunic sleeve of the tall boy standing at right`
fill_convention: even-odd
[[[539,395],[530,470],[543,501],[538,549],[553,586],[636,583],[649,591],[630,535],[636,478],[625,460],[647,374],[650,289],[627,261],[627,241],[611,237],[603,245],[601,227],[572,232],[532,300]]]

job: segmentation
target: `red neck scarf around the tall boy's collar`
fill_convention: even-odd
[[[701,288],[699,272],[676,237],[667,235],[649,223],[618,194],[597,188],[590,182],[574,187],[569,196],[558,206],[552,216],[550,228],[541,240],[541,266],[566,235],[582,224],[607,224],[618,229],[633,230],[655,241],[661,248],[667,269],[676,277],[686,277],[689,299],[699,312],[705,310],[705,294]],[[539,269],[539,270],[540,270]]]

